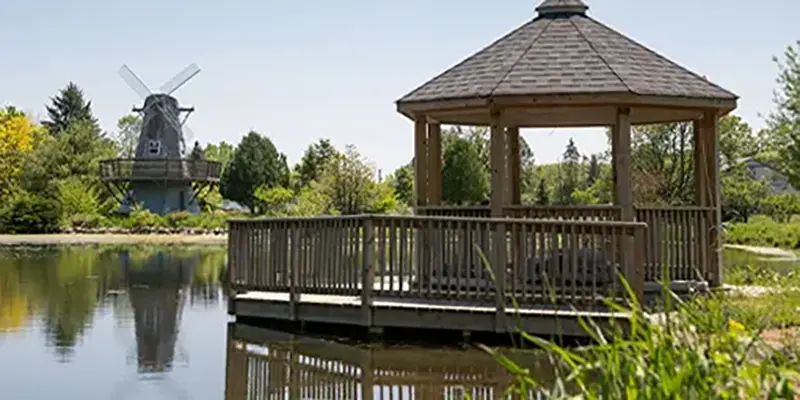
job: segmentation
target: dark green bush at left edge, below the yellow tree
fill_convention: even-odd
[[[59,230],[61,207],[58,201],[15,191],[3,198],[0,206],[0,232],[52,233]]]

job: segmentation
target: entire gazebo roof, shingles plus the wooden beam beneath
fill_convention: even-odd
[[[737,96],[592,19],[582,0],[545,0],[537,16],[397,101],[446,124],[611,125],[684,121],[736,108]]]

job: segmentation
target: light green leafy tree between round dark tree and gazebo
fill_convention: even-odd
[[[319,183],[335,210],[353,215],[373,208],[377,189],[374,177],[374,168],[361,158],[355,146],[348,145],[344,153],[328,162]]]

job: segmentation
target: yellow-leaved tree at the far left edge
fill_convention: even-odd
[[[25,157],[33,151],[41,129],[13,107],[0,109],[0,196],[22,173]]]

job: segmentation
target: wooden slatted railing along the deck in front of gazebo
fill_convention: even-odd
[[[497,307],[513,296],[595,309],[625,296],[620,274],[637,296],[644,284],[641,223],[361,215],[229,224],[234,290]]]

